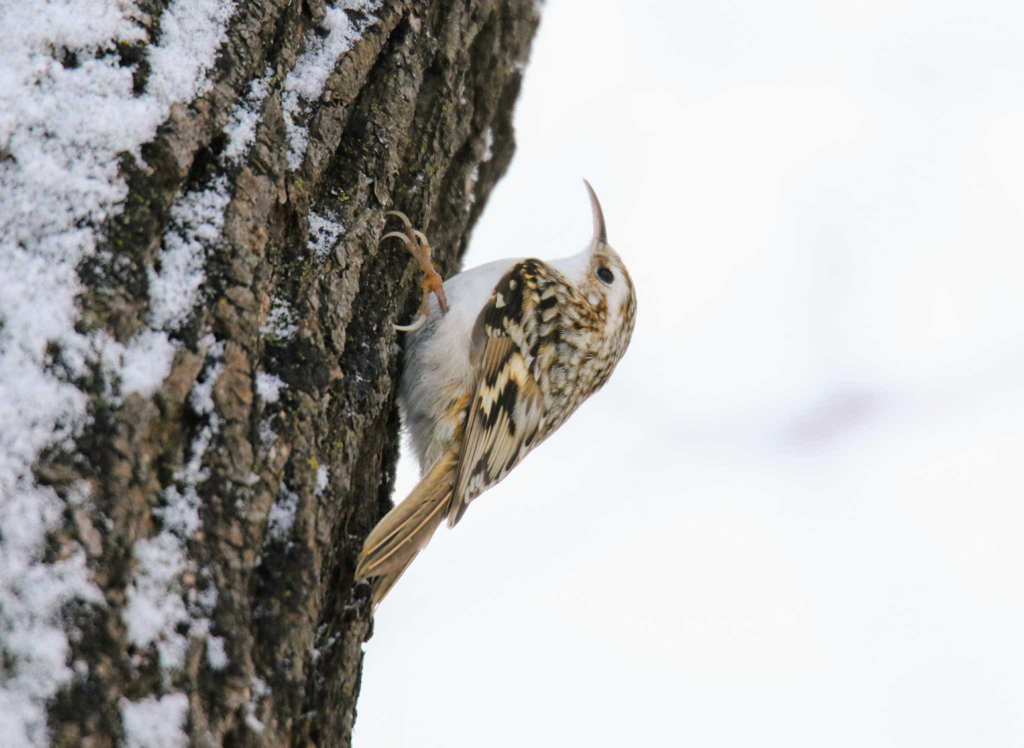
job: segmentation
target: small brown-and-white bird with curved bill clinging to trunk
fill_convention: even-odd
[[[500,483],[608,380],[633,336],[636,293],[608,244],[590,182],[593,235],[577,254],[510,257],[441,283],[426,236],[398,211],[423,272],[423,302],[408,333],[398,408],[421,480],[367,536],[356,580],[376,609],[446,517]]]

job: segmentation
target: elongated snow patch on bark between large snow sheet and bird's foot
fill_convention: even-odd
[[[180,327],[199,301],[206,281],[206,256],[220,241],[224,209],[230,202],[227,177],[186,194],[171,208],[172,227],[164,235],[160,272],[150,268],[150,314],[154,327]]]

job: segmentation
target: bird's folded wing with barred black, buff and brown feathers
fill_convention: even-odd
[[[545,311],[553,306],[544,295],[540,260],[515,264],[490,295],[473,329],[472,356],[476,391],[470,401],[462,455],[456,471],[449,526],[462,518],[469,502],[504,479],[539,444],[544,397],[535,366]],[[550,271],[549,271],[550,273]],[[551,340],[545,341],[553,345]]]

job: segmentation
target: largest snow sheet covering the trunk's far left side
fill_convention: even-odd
[[[145,42],[132,3],[92,0],[0,4],[0,631],[8,674],[0,684],[6,745],[49,743],[45,704],[72,678],[59,610],[101,599],[80,553],[43,564],[62,500],[37,486],[41,450],[86,423],[86,398],[69,380],[99,362],[109,381],[152,392],[168,346],[140,336],[111,356],[105,333],[76,331],[77,267],[122,209],[119,154],[141,159],[170,108],[209,86],[234,3],[177,0],[160,17],[145,91],[133,91],[119,43]],[[65,67],[65,54],[76,65]],[[52,348],[59,350],[54,361]],[[147,354],[154,355],[148,365]],[[58,364],[59,366],[54,366]],[[119,369],[120,366],[120,369]],[[62,370],[65,376],[56,371]],[[182,699],[184,697],[181,697]],[[186,703],[186,702],[185,702]],[[180,722],[180,720],[178,720]],[[179,732],[179,731],[178,731]],[[141,745],[141,744],[140,744]]]

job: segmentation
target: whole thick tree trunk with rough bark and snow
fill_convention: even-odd
[[[0,18],[46,63],[0,119],[2,742],[347,746],[420,298],[384,211],[456,271],[538,10],[138,3]]]

